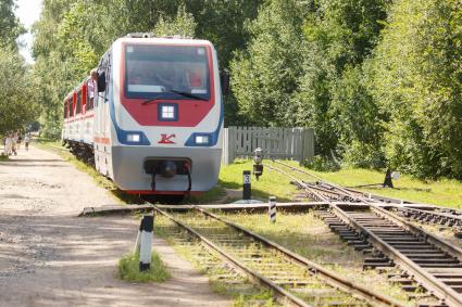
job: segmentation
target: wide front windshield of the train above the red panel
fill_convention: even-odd
[[[209,100],[209,75],[204,47],[125,46],[127,98]]]

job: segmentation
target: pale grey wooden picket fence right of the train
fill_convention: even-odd
[[[223,164],[250,157],[257,148],[265,157],[302,162],[314,156],[312,128],[228,127],[223,136]]]

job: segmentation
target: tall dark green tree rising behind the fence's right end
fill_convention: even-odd
[[[383,165],[383,117],[365,87],[363,62],[374,49],[385,0],[321,0],[303,26],[303,73],[296,123],[315,128],[317,153],[354,166]]]

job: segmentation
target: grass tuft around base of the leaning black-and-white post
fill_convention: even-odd
[[[139,253],[125,255],[118,260],[118,278],[132,282],[164,282],[170,273],[159,254],[152,251],[151,268],[142,272],[139,271]]]

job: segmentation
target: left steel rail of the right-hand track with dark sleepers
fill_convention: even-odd
[[[430,291],[436,297],[442,299],[445,304],[448,304],[449,306],[462,306],[462,296],[458,292],[439,281],[432,273],[427,272],[413,260],[411,260],[408,256],[402,254],[397,248],[392,247],[390,244],[386,243],[378,235],[367,230],[353,217],[349,216],[345,210],[342,210],[339,206],[332,205],[332,208],[344,222],[355,229],[358,232],[367,235],[367,240],[370,243],[372,243],[387,257],[392,259],[396,265],[399,265],[402,269],[408,271],[408,273],[412,274],[417,282],[420,282],[425,289]],[[382,208],[377,208],[374,206],[371,206],[371,208],[377,209],[377,212],[389,216],[389,213]]]

